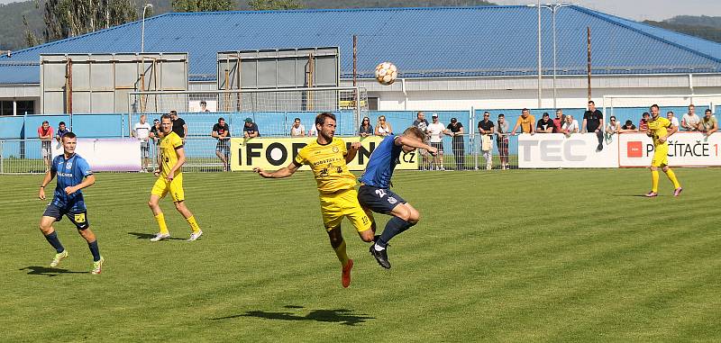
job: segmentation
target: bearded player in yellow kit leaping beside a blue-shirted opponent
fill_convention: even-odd
[[[348,171],[347,163],[355,158],[360,143],[352,143],[351,149],[346,149],[345,142],[335,135],[335,115],[333,113],[320,113],[315,117],[315,129],[318,131],[317,140],[306,145],[298,151],[297,157],[287,167],[278,169],[273,173],[262,168],[253,171],[266,178],[281,178],[292,176],[298,167],[307,164],[313,170],[315,182],[318,185],[321,200],[321,214],[331,247],[341,261],[341,284],[348,287],[351,284],[351,268],[353,260],[348,258],[345,251],[345,241],[341,232],[343,217],[353,224],[358,231],[360,239],[366,242],[373,241],[375,225],[358,203],[358,193],[355,190],[355,176]]]

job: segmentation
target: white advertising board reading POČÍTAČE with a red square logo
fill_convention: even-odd
[[[653,140],[643,133],[619,136],[619,166],[649,167],[653,158]],[[721,166],[721,133],[706,137],[699,132],[678,132],[669,137],[669,166]]]

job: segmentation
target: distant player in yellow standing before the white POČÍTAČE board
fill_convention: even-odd
[[[676,174],[669,167],[669,137],[679,128],[673,126],[671,121],[660,115],[659,105],[651,106],[651,120],[648,122],[648,130],[646,134],[653,139],[653,159],[651,160],[651,192],[646,194],[648,197],[658,196],[659,192],[659,167],[662,168],[666,176],[669,176],[673,183],[673,196],[679,196],[683,188],[676,179]]]

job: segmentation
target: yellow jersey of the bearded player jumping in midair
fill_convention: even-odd
[[[310,166],[318,184],[318,192],[335,193],[355,187],[355,176],[348,171],[348,165],[345,164],[346,154],[348,149],[345,142],[339,138],[333,138],[333,141],[326,145],[320,145],[314,140],[298,151],[294,163],[297,166]]]

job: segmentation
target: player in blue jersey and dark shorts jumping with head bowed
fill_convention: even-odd
[[[360,176],[360,189],[358,202],[370,216],[370,211],[392,215],[386,228],[375,242],[370,246],[370,255],[376,257],[379,265],[388,269],[388,241],[397,234],[414,226],[420,213],[410,203],[390,190],[390,177],[399,163],[401,152],[411,152],[415,149],[426,149],[435,156],[438,149],[424,143],[425,133],[417,127],[410,127],[403,135],[389,134],[378,147],[373,150],[366,170]]]

